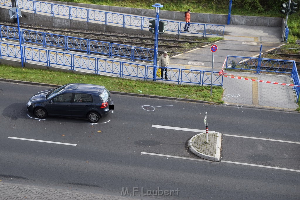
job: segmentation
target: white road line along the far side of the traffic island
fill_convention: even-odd
[[[181,128],[181,127],[169,127],[169,126],[161,126],[161,125],[154,125],[154,124],[152,124],[152,128],[164,128],[164,129],[171,129],[171,130],[183,130],[183,131],[190,131],[190,132],[197,132],[197,133],[206,133],[206,130]],[[209,130],[208,133],[215,133],[215,131]],[[237,136],[237,135],[229,135],[229,134],[222,134],[222,136],[231,136],[231,137],[239,137],[239,138],[259,139],[259,140],[269,140],[269,141],[274,141],[274,142],[286,142],[286,143],[300,144],[300,142],[275,140],[275,139],[267,139],[267,138],[255,138],[255,137],[248,137],[248,136]]]

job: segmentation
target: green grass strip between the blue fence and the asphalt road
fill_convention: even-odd
[[[143,94],[224,103],[221,100],[223,97],[223,88],[220,86],[213,86],[213,93],[212,96],[210,96],[209,86],[173,85],[95,74],[78,74],[71,72],[12,67],[3,64],[0,65],[0,69],[0,78],[3,79],[42,82],[55,85],[64,85],[67,83],[89,83],[103,85],[111,91],[140,93],[138,90],[141,90]]]

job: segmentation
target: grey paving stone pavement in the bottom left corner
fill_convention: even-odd
[[[0,182],[0,199],[3,200],[137,200],[111,195],[59,190]]]

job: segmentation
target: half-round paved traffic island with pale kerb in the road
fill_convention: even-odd
[[[199,133],[188,141],[188,148],[200,158],[212,161],[220,161],[222,134],[208,133],[208,144],[205,141],[205,133]]]

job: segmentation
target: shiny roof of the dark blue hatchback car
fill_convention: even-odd
[[[70,83],[65,85],[64,92],[78,92],[78,93],[91,93],[91,94],[101,94],[104,90],[104,86],[92,85],[84,83]]]

